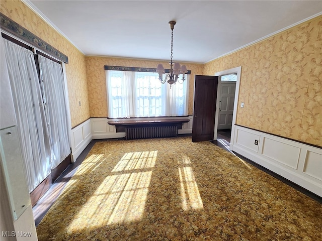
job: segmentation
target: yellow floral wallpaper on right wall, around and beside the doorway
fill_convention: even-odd
[[[236,124],[322,147],[322,16],[206,63],[204,74],[237,66]]]

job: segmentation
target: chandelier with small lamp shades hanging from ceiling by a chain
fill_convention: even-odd
[[[163,74],[166,73],[165,68],[162,64],[158,64],[156,67],[156,72],[159,74],[159,80],[161,83],[168,82],[170,84],[170,88],[172,84],[176,84],[177,82],[183,83],[185,81],[185,74],[188,73],[186,65],[180,66],[179,63],[174,63],[172,61],[172,48],[173,48],[173,29],[176,25],[176,21],[170,21],[170,28],[171,28],[171,60],[170,64],[170,73],[167,73],[166,78],[163,79]],[[182,82],[179,81],[179,74],[182,74]]]

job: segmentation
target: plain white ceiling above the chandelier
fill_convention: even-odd
[[[85,55],[205,63],[322,14],[322,1],[25,0]]]

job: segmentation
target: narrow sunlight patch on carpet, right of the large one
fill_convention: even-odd
[[[178,164],[183,165],[183,167],[179,167],[182,208],[185,211],[189,209],[201,209],[203,208],[203,202],[195,180],[195,175],[193,174],[192,168],[188,166],[191,164],[191,161],[189,157],[183,156],[181,162],[179,161]]]

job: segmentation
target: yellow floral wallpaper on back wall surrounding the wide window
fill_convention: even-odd
[[[162,63],[165,68],[170,66],[168,62],[152,60],[136,60],[108,57],[86,57],[86,74],[88,81],[88,93],[91,117],[107,117],[107,94],[104,65],[156,68]],[[203,64],[186,63],[191,70],[189,84],[188,114],[193,113],[194,79],[195,75],[203,74]]]

